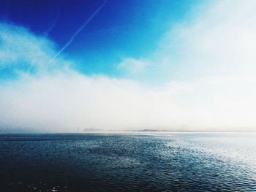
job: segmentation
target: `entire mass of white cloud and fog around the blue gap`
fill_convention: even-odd
[[[255,131],[252,4],[214,1],[195,7],[192,19],[170,28],[152,56],[118,64],[126,78],[86,76],[64,55],[50,63],[58,53],[50,39],[2,23],[0,72],[12,78],[1,78],[0,127]]]

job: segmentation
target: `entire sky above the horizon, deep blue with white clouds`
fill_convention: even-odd
[[[256,2],[0,1],[0,130],[256,131]]]

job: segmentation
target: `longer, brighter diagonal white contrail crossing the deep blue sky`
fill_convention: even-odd
[[[64,45],[64,47],[61,48],[61,50],[59,50],[58,53],[56,53],[56,55],[53,56],[53,58],[50,60],[50,63],[62,52],[64,51],[75,39],[75,37],[80,33],[80,31],[83,30],[83,28],[85,28],[88,23],[94,18],[95,15],[97,15],[97,13],[100,11],[100,9],[102,9],[102,7],[105,6],[106,2],[108,0],[105,0],[99,7],[98,9],[96,9],[96,11],[86,20],[86,22],[83,23],[82,26],[80,26],[80,28],[78,28],[77,31],[75,31],[75,33],[72,35],[72,37],[69,39],[69,41],[66,43],[66,45]]]

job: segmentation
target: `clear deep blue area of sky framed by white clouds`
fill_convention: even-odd
[[[0,18],[47,36],[60,49],[102,2],[1,1]],[[84,74],[121,77],[116,65],[123,58],[150,56],[165,32],[185,20],[197,2],[109,0],[63,54]]]

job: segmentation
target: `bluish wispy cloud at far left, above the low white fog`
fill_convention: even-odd
[[[24,71],[26,65],[37,71],[45,72],[64,68],[67,60],[58,59],[54,65],[51,58],[56,53],[53,42],[45,37],[39,37],[22,27],[0,23],[0,69],[12,67],[16,71]],[[20,68],[22,68],[20,70]]]

